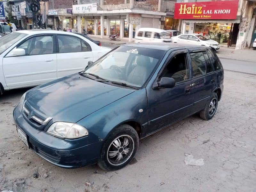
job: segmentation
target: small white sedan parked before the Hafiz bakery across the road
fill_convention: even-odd
[[[187,45],[203,45],[207,47],[214,47],[216,50],[220,49],[217,41],[208,39],[199,34],[182,34],[171,38],[172,43],[182,43]]]

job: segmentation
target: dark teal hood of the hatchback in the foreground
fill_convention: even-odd
[[[35,113],[52,117],[54,122],[77,122],[135,91],[97,82],[78,74],[55,82],[34,88],[26,96]]]

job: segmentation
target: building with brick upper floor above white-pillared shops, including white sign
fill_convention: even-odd
[[[161,28],[166,16],[161,0],[80,0],[73,5],[78,32],[108,37],[117,34],[132,41],[135,30],[142,27]]]

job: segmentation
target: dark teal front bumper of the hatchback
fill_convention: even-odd
[[[24,119],[18,106],[13,110],[13,119],[16,126],[26,133],[30,149],[46,161],[63,168],[77,168],[97,163],[102,141],[92,144],[84,142],[84,145],[77,147],[85,138],[59,139],[44,130],[37,130]]]

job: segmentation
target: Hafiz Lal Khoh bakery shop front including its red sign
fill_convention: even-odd
[[[174,19],[182,19],[182,33],[197,33],[223,45],[235,45],[240,18],[238,0],[176,3]]]

